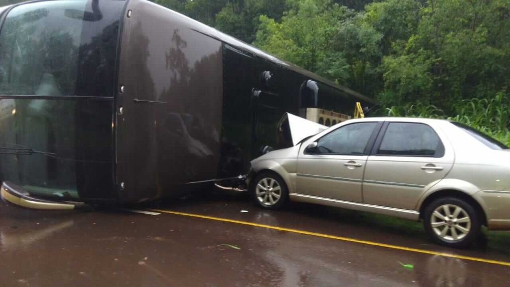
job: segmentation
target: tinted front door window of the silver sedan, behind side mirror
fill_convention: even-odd
[[[357,123],[338,128],[317,141],[317,150],[321,154],[362,155],[376,125]]]

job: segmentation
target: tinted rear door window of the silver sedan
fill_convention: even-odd
[[[390,123],[377,154],[433,157],[442,150],[443,144],[431,127],[416,123]]]

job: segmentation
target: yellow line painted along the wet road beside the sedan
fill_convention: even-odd
[[[377,242],[372,242],[372,241],[358,240],[358,239],[349,238],[349,237],[342,237],[342,236],[310,232],[310,231],[304,231],[304,230],[298,230],[298,229],[292,229],[292,228],[286,228],[286,227],[258,224],[258,223],[252,223],[252,222],[247,222],[247,221],[240,221],[240,220],[233,220],[233,219],[226,219],[226,218],[219,218],[219,217],[212,217],[212,216],[204,216],[204,215],[200,215],[200,214],[162,210],[162,209],[151,209],[150,211],[169,213],[169,214],[175,214],[175,215],[187,216],[187,217],[195,217],[195,218],[201,218],[201,219],[209,219],[209,220],[222,221],[222,222],[230,222],[230,223],[236,223],[236,224],[242,224],[242,225],[248,225],[248,226],[262,227],[262,228],[267,228],[267,229],[274,229],[274,230],[279,230],[279,231],[287,231],[287,232],[298,233],[298,234],[331,238],[331,239],[336,239],[336,240],[341,240],[341,241],[361,243],[361,244],[365,244],[365,245],[385,247],[385,248],[391,248],[391,249],[397,249],[397,250],[403,250],[403,251],[411,251],[411,252],[416,252],[416,253],[440,255],[440,256],[450,257],[450,258],[458,258],[458,259],[464,259],[464,260],[470,260],[470,261],[484,262],[484,263],[489,263],[489,264],[510,266],[510,262],[505,262],[505,261],[484,259],[484,258],[464,256],[464,255],[456,255],[456,254],[443,253],[443,252],[435,252],[435,251],[430,251],[430,250],[425,250],[425,249],[417,249],[417,248],[410,248],[410,247],[391,245],[391,244],[385,244],[385,243],[377,243]]]

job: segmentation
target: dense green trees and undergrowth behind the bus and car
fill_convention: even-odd
[[[379,113],[510,141],[509,0],[152,1],[366,94]]]

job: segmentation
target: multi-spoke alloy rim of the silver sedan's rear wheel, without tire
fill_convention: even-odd
[[[458,241],[471,231],[471,218],[462,207],[444,204],[432,212],[430,218],[432,229],[445,241]]]

